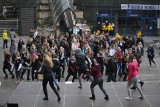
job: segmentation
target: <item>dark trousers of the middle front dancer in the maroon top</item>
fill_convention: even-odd
[[[102,77],[101,77],[101,78],[93,79],[93,81],[92,81],[92,83],[91,83],[91,85],[90,85],[90,89],[91,89],[91,94],[92,94],[92,96],[95,95],[95,94],[94,94],[94,87],[95,87],[96,85],[99,86],[99,88],[102,90],[102,92],[103,92],[104,95],[106,96],[107,93],[106,93],[106,91],[105,91],[104,88],[103,88],[103,78],[102,78]]]

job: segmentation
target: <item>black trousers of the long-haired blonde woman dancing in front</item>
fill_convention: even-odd
[[[56,90],[54,84],[53,84],[53,77],[44,77],[43,78],[43,82],[42,82],[42,86],[43,86],[43,92],[45,95],[45,98],[48,98],[48,91],[47,91],[47,84],[50,84],[52,90],[55,92],[55,94],[57,95],[58,98],[60,98],[58,91]]]

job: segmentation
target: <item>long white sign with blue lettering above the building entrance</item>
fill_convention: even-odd
[[[121,4],[122,10],[160,10],[160,5]]]

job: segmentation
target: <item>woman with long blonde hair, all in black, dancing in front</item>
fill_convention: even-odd
[[[47,92],[47,83],[49,81],[49,84],[52,88],[52,90],[55,92],[55,94],[58,97],[58,101],[61,100],[58,91],[56,90],[54,84],[53,84],[53,62],[52,59],[47,55],[44,54],[43,57],[43,62],[42,62],[42,68],[41,68],[41,72],[43,75],[43,81],[42,81],[42,85],[43,85],[43,92],[45,95],[45,98],[43,98],[43,100],[48,100],[48,92]]]

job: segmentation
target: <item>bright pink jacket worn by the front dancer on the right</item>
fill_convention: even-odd
[[[135,76],[138,76],[137,61],[133,61],[128,64],[128,80],[131,80]]]

